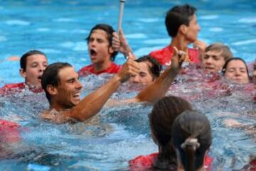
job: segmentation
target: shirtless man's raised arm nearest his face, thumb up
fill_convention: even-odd
[[[95,92],[85,96],[73,109],[65,112],[64,115],[76,118],[79,121],[85,121],[85,119],[94,116],[102,109],[119,85],[129,79],[130,75],[136,75],[137,72],[139,72],[137,62],[134,62],[132,59],[127,60],[122,70],[110,79],[109,82]]]

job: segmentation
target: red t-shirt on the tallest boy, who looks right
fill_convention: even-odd
[[[171,45],[166,46],[161,50],[154,50],[149,53],[151,57],[158,60],[161,65],[171,65],[171,57],[174,55],[174,48]],[[199,51],[196,49],[188,48],[188,57],[193,63],[199,63]]]

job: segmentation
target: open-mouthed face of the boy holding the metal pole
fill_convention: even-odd
[[[94,64],[110,60],[112,53],[114,53],[114,50],[110,46],[107,33],[100,29],[92,31],[88,40],[88,50],[91,62]]]

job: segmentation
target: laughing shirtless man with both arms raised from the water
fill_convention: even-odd
[[[124,102],[148,101],[154,103],[166,94],[171,82],[178,74],[181,63],[177,55],[178,50],[175,50],[171,66],[154,83],[139,92],[136,97]],[[130,53],[129,59],[117,75],[82,100],[80,100],[82,84],[74,68],[70,64],[62,62],[49,65],[43,72],[42,87],[46,92],[50,108],[43,111],[41,117],[54,123],[66,123],[74,120],[85,121],[87,118],[95,116],[120,84],[139,72],[138,63],[132,60],[132,57]]]

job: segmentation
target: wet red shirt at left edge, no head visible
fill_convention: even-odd
[[[0,143],[16,143],[20,140],[18,123],[0,119]]]

